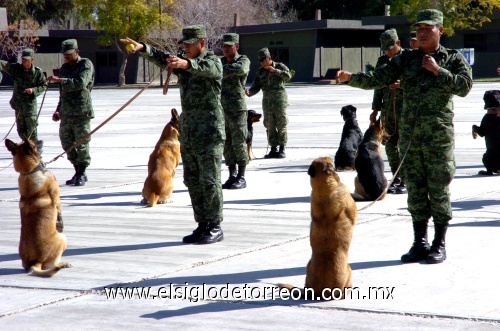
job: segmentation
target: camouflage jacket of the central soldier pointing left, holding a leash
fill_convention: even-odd
[[[144,44],[141,56],[157,66],[164,67],[168,52]],[[220,102],[222,89],[222,63],[212,51],[205,50],[197,58],[189,59],[191,68],[174,69],[180,85],[182,113],[179,116],[181,144],[196,142],[212,145],[226,139],[224,114]]]

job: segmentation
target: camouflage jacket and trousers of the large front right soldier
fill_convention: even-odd
[[[472,88],[472,69],[457,51],[439,46],[429,54],[438,76],[422,69],[424,53],[408,50],[369,73],[353,74],[350,86],[382,88],[401,80],[403,110],[399,123],[399,151],[408,187],[408,211],[413,222],[448,224],[452,218],[449,184],[455,173],[453,95],[466,96]]]

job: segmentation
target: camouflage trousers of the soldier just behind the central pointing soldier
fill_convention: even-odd
[[[226,142],[224,143],[224,160],[227,166],[246,166],[247,154],[247,111],[224,112]]]

